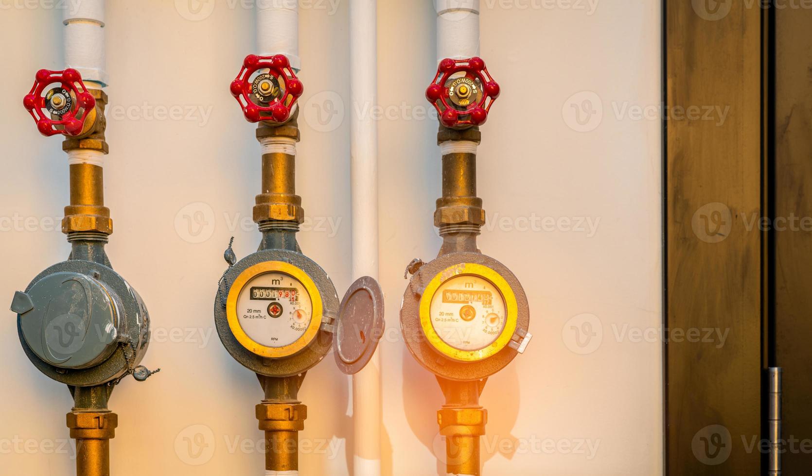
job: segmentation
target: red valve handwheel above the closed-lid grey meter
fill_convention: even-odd
[[[37,71],[37,79],[24,97],[23,105],[37,121],[42,135],[80,135],[89,112],[96,107],[96,100],[84,86],[79,71],[68,68]]]

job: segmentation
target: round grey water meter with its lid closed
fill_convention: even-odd
[[[149,314],[112,268],[69,259],[45,269],[11,303],[19,341],[42,373],[63,384],[105,384],[132,371],[149,345]]]

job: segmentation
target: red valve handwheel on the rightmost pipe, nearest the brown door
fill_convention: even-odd
[[[499,84],[488,74],[482,58],[477,57],[443,59],[434,81],[425,90],[425,98],[437,109],[440,122],[451,129],[484,124],[497,97]]]

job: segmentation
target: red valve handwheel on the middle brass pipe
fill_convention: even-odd
[[[262,69],[268,72],[251,78]],[[240,103],[248,122],[287,121],[303,91],[302,82],[296,78],[284,54],[249,54],[243,61],[240,74],[231,81],[231,96]]]

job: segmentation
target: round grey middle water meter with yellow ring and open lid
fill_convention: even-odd
[[[260,375],[308,371],[334,346],[336,363],[354,374],[374,354],[383,332],[383,294],[361,277],[339,305],[327,273],[298,251],[246,256],[222,277],[214,323],[229,354]]]

